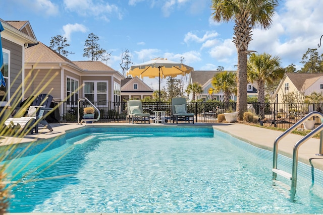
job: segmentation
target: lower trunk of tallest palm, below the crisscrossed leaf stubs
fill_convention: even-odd
[[[243,119],[243,113],[247,110],[247,53],[238,50],[238,84],[237,84],[237,111],[240,120]]]

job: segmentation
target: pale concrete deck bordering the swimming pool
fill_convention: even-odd
[[[194,123],[194,124],[129,124],[129,123],[93,123],[93,124],[83,124],[78,125],[77,123],[71,124],[52,124],[53,131],[49,132],[46,128],[40,128],[38,134],[28,134],[23,138],[17,137],[5,137],[5,139],[0,139],[0,146],[19,143],[19,142],[30,142],[35,140],[44,140],[49,138],[53,138],[59,135],[64,134],[67,130],[77,129],[84,126],[213,126],[213,128],[226,132],[238,139],[241,139],[245,142],[248,142],[251,145],[256,147],[273,151],[273,144],[275,139],[282,134],[282,131],[270,130],[262,127],[255,127],[240,123]],[[302,136],[296,134],[289,134],[285,138],[283,138],[279,143],[279,153],[285,155],[287,157],[292,158],[293,147],[295,143],[301,139]],[[299,149],[299,161],[303,162],[307,165],[309,164],[309,159],[312,160],[312,164],[314,168],[323,171],[323,157],[315,156],[319,152],[319,139],[311,138],[307,140]],[[23,214],[64,214],[64,213],[7,213],[11,215],[23,215]],[[74,214],[91,214],[91,215],[99,215],[99,214],[115,214],[115,213],[74,213]],[[127,214],[127,213],[124,213]],[[133,214],[133,213],[131,213]],[[148,214],[148,213],[147,213]],[[165,214],[165,213],[164,213]],[[188,213],[168,213],[168,214],[188,214]],[[194,214],[194,213],[189,213]],[[224,214],[224,213],[203,213],[204,215],[208,214]],[[231,214],[239,214],[239,215],[251,215],[251,214],[263,214],[263,213],[226,213],[228,215]]]

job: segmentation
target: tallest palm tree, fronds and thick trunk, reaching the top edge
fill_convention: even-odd
[[[278,0],[212,0],[216,22],[234,21],[233,42],[238,51],[237,109],[240,119],[247,110],[247,54],[254,27],[270,27]]]

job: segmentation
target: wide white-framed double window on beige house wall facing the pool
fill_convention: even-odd
[[[91,102],[107,101],[107,82],[84,82],[84,96]]]

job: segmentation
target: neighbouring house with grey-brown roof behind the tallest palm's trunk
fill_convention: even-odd
[[[212,78],[217,74],[221,73],[221,70],[209,70],[209,71],[191,71],[189,76],[189,84],[198,83],[202,86],[203,92],[200,94],[196,94],[196,100],[197,99],[203,99],[204,101],[208,100],[217,100],[217,101],[223,101],[224,94],[223,92],[210,95],[208,94],[208,89],[213,88],[212,86]],[[235,72],[235,71],[230,71]],[[248,84],[247,86],[247,95],[250,97],[254,97],[258,95],[258,92],[256,88],[252,84]],[[191,101],[193,98],[192,93],[188,95],[189,101]],[[237,100],[237,97],[235,95],[231,96],[231,100]]]

